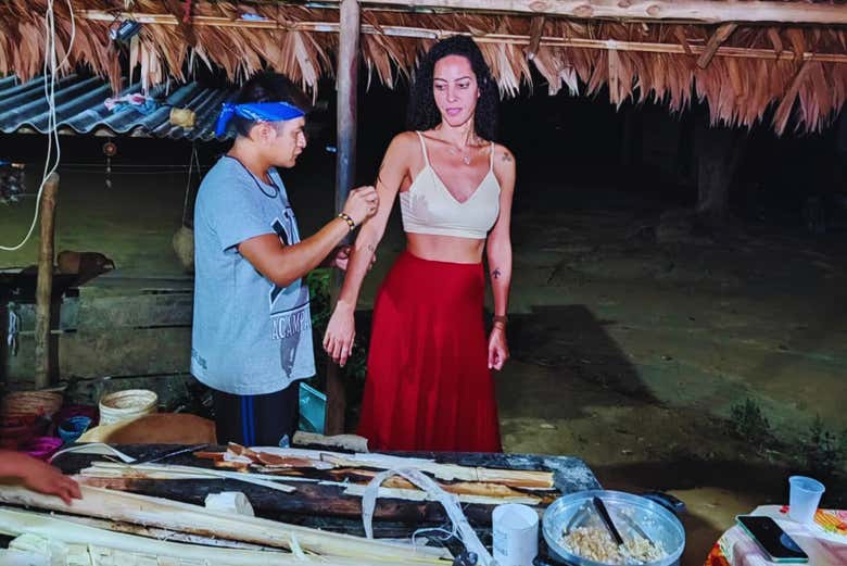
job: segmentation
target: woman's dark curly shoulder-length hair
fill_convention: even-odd
[[[473,127],[477,135],[485,140],[493,140],[497,131],[497,103],[500,93],[497,85],[491,76],[491,70],[482,58],[477,43],[467,36],[453,36],[442,39],[430,49],[420,62],[412,83],[406,126],[410,130],[425,130],[435,127],[441,122],[441,113],[432,95],[432,80],[435,63],[447,55],[462,55],[470,61],[470,67],[477,76],[479,100],[473,115]]]

